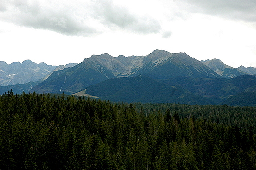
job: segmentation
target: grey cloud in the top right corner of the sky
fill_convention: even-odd
[[[192,12],[218,15],[233,20],[256,22],[256,0],[181,0]]]

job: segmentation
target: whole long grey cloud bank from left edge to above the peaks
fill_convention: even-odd
[[[2,21],[64,35],[90,36],[116,28],[142,34],[161,30],[157,20],[132,14],[111,0],[76,1],[70,5],[55,1],[3,0],[0,4]]]

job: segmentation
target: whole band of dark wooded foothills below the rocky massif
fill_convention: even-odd
[[[91,85],[86,94],[104,100],[142,103],[183,104],[249,104],[256,92],[256,76],[243,75],[232,79],[177,76],[168,80],[137,77],[112,78]],[[248,97],[246,97],[246,94]],[[233,97],[237,96],[237,97]],[[243,96],[243,98],[239,98]],[[250,99],[251,98],[251,99]]]

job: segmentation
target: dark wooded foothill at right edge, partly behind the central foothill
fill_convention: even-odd
[[[179,85],[191,93],[221,103],[232,95],[256,91],[256,76],[242,75],[231,79],[174,77],[164,84]]]

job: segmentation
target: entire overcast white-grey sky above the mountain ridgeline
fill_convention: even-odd
[[[155,49],[256,67],[256,0],[0,0],[0,61],[8,64]]]

